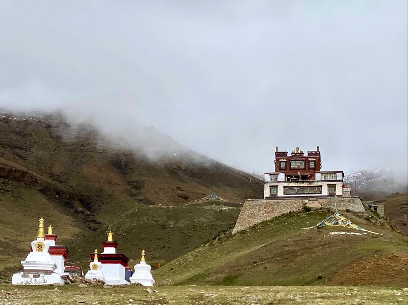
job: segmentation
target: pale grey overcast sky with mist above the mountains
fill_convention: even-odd
[[[407,167],[407,2],[0,2],[0,106],[154,125],[241,169]]]

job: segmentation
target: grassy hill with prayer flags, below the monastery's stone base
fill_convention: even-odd
[[[161,285],[408,285],[404,236],[385,220],[373,224],[375,215],[369,221],[352,213],[346,216],[383,235],[329,234],[353,232],[340,227],[302,229],[327,215],[292,213],[235,235],[230,230],[156,270],[155,279]],[[356,264],[364,264],[363,270]]]

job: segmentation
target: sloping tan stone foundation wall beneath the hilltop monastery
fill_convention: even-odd
[[[245,200],[241,213],[238,216],[233,234],[270,220],[276,216],[294,212],[303,208],[303,205],[319,204],[323,208],[335,210],[336,199],[334,197],[323,198],[274,198],[274,199],[249,199]],[[364,212],[364,206],[359,197],[338,197],[337,209],[352,212]]]

